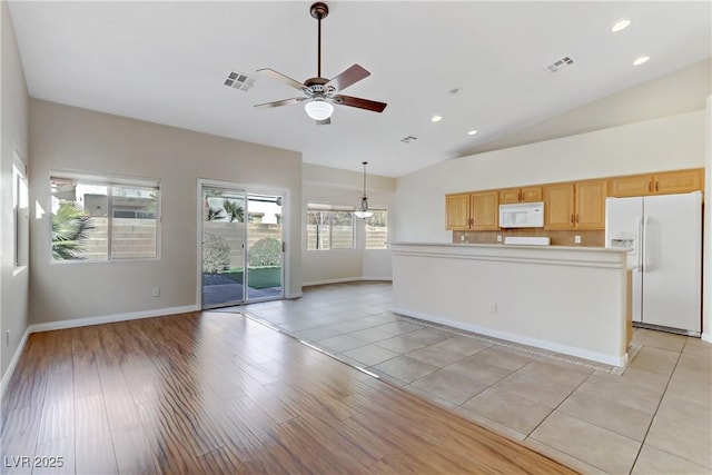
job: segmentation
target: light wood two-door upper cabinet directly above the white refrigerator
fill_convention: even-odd
[[[609,196],[646,196],[692,192],[704,187],[704,169],[663,171],[609,179]]]

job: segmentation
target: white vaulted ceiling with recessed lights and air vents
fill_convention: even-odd
[[[327,1],[322,76],[358,63],[372,76],[344,93],[388,106],[337,106],[317,126],[304,102],[254,107],[301,96],[258,69],[317,76],[312,2],[9,4],[33,98],[297,150],[310,164],[368,160],[389,177],[712,56],[708,1]],[[612,32],[622,19],[630,26]],[[633,66],[641,56],[650,60]],[[233,71],[253,87],[225,86]]]

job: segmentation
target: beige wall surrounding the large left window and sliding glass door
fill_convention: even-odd
[[[41,100],[30,101],[30,315],[47,324],[77,318],[185,311],[198,301],[197,179],[285,196],[287,296],[301,291],[300,154]],[[52,169],[159,178],[161,258],[50,261],[48,177]],[[160,287],[160,297],[151,289]]]

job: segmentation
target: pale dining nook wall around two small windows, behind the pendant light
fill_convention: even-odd
[[[363,195],[363,172],[339,170],[318,165],[303,166],[303,209],[308,202],[335,206],[360,205]],[[393,205],[393,178],[367,175],[366,195],[372,208],[388,208],[389,220],[397,211]],[[388,226],[392,226],[392,222]],[[365,250],[364,222],[355,221],[355,249],[306,250],[306,230],[303,235],[301,278],[304,285],[325,284],[359,279],[392,278],[390,250]]]

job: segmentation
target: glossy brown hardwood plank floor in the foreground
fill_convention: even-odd
[[[31,335],[1,437],[8,474],[573,473],[227,313]]]

